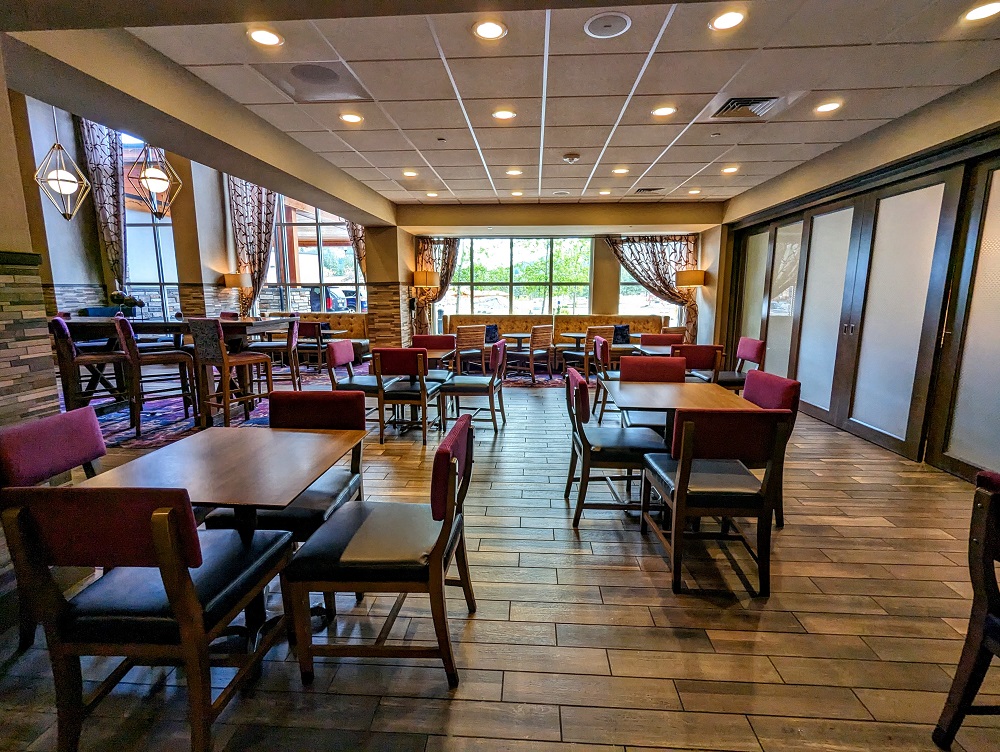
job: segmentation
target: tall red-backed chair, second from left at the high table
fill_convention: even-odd
[[[184,405],[184,417],[188,410],[194,413],[198,423],[198,380],[194,372],[194,358],[183,350],[153,350],[143,352],[135,339],[132,324],[124,316],[115,317],[115,331],[118,346],[125,354],[128,364],[129,422],[135,428],[135,437],[142,435],[142,409],[147,402],[180,397]],[[176,367],[178,383],[168,373],[149,373],[154,366]],[[149,385],[152,388],[149,388]]]

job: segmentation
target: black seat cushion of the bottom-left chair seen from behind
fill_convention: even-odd
[[[202,565],[190,572],[206,629],[215,627],[292,546],[289,533],[275,530],[258,530],[249,546],[235,530],[200,531],[198,538]],[[69,601],[60,630],[67,642],[180,642],[160,570],[150,567],[119,567],[85,588]]]

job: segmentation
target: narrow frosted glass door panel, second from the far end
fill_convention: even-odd
[[[764,353],[764,370],[778,376],[788,375],[788,351],[792,346],[792,318],[795,315],[801,251],[802,223],[779,227],[774,237]]]

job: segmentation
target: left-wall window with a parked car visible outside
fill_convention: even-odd
[[[368,310],[365,278],[344,220],[287,196],[278,197],[271,263],[260,310]]]

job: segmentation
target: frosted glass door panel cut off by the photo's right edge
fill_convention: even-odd
[[[990,181],[947,454],[1000,470],[1000,171]]]

